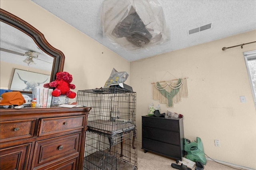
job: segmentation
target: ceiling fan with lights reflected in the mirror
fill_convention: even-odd
[[[21,56],[27,56],[26,59],[23,60],[24,63],[27,63],[28,65],[30,64],[36,64],[34,62],[33,59],[39,59],[38,58],[38,55],[40,53],[37,53],[37,52],[33,52],[33,51],[26,51],[24,54],[23,53],[19,53],[19,52],[16,52],[16,51],[12,51],[10,49],[4,49],[4,48],[0,48],[1,51],[5,51],[5,52],[8,52],[8,53],[12,53],[12,54],[16,54],[16,55],[21,55]],[[46,63],[51,63],[51,62],[48,62],[48,61],[45,61],[45,60],[42,60],[42,59],[39,59],[41,61],[44,61]]]

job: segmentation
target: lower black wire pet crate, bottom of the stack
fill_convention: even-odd
[[[136,136],[135,129],[115,135],[87,131],[84,170],[137,170]]]

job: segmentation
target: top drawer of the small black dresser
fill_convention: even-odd
[[[154,127],[179,132],[179,120],[167,118],[142,117],[142,127]]]

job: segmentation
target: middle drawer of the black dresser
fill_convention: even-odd
[[[180,133],[157,128],[142,128],[142,137],[180,146]]]

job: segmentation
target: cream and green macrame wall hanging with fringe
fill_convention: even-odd
[[[170,81],[158,81],[152,83],[152,85],[153,99],[167,104],[167,107],[173,107],[174,103],[179,103],[182,98],[188,97],[187,77]]]

